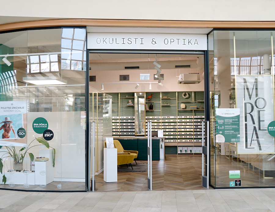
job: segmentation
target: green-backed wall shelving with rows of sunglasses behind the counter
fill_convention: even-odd
[[[112,102],[112,135],[134,136],[137,124],[134,107],[135,93],[110,93],[109,95],[115,97]],[[127,103],[129,100],[133,105]],[[145,104],[153,105],[153,110],[145,110],[146,136],[147,121],[150,120],[152,132],[163,130],[165,148],[169,148],[167,152],[201,154],[201,141],[204,134],[202,129],[204,92],[146,92]]]

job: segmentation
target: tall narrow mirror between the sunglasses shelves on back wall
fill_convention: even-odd
[[[145,93],[135,93],[136,98],[136,134],[145,135]]]

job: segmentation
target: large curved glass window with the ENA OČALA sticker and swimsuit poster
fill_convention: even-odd
[[[0,189],[85,191],[86,29],[2,33],[0,61]]]

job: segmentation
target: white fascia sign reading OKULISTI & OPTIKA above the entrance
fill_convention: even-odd
[[[87,49],[207,50],[207,35],[88,33]]]

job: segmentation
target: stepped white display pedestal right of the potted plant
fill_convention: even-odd
[[[35,161],[35,185],[47,185],[53,181],[53,149],[39,149],[40,157],[48,161]]]

